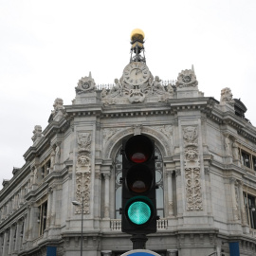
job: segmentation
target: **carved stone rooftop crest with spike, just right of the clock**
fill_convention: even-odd
[[[198,82],[197,82],[196,76],[194,74],[193,66],[192,66],[192,69],[182,70],[178,74],[176,87],[178,87],[178,88],[195,87],[197,85],[198,85]]]

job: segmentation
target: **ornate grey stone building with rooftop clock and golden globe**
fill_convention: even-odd
[[[120,231],[119,177],[121,142],[135,135],[154,139],[158,156],[160,219],[148,249],[229,255],[238,243],[240,255],[256,255],[256,128],[246,106],[229,88],[220,101],[204,97],[193,68],[161,82],[143,49],[143,33],[133,33],[113,86],[83,77],[72,104],[57,98],[45,130],[35,126],[25,165],[0,192],[0,255],[80,255],[82,210],[83,255],[132,249]],[[83,209],[72,204],[82,198]]]

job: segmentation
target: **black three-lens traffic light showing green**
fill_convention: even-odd
[[[121,230],[156,232],[155,143],[138,135],[122,141]]]

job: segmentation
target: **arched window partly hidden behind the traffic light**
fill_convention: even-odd
[[[121,208],[121,184],[119,183],[119,179],[121,177],[121,164],[122,164],[122,156],[118,154],[115,157],[115,192],[116,192],[116,200],[115,200],[115,217],[116,219],[120,219],[121,216],[119,214],[119,209]],[[158,185],[159,189],[156,190],[156,208],[157,215],[160,217],[164,216],[164,190],[163,190],[163,160],[162,155],[159,149],[155,146],[155,182]]]

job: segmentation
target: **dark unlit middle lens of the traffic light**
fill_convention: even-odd
[[[127,186],[132,192],[147,192],[151,188],[152,183],[152,172],[145,165],[136,165],[127,174]]]

